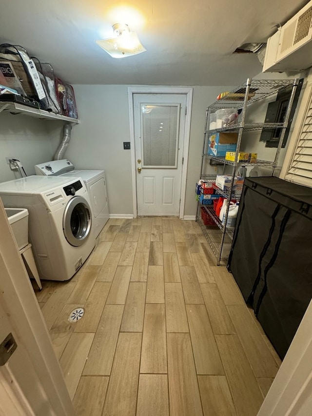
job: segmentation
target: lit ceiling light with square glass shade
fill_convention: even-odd
[[[136,32],[130,32],[129,26],[123,23],[113,25],[114,38],[96,40],[98,46],[113,58],[126,58],[145,52]]]

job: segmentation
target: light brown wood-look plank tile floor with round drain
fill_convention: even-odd
[[[42,286],[78,416],[253,416],[281,363],[195,221],[110,219],[70,281]]]

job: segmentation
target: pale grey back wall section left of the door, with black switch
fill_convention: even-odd
[[[126,85],[75,85],[79,125],[65,153],[75,167],[104,169],[109,210],[133,214],[129,141],[128,89]]]

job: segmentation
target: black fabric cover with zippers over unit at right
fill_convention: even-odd
[[[246,178],[228,270],[284,358],[312,298],[312,189]]]

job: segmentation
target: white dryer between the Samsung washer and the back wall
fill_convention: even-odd
[[[75,169],[67,159],[41,163],[35,166],[35,170],[36,175],[82,178],[90,197],[93,233],[98,237],[109,218],[105,171]]]

